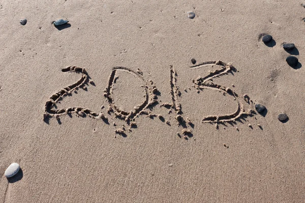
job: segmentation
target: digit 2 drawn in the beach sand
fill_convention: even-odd
[[[102,118],[102,119],[107,120],[107,118],[105,117],[105,115],[103,113],[101,113],[101,112],[96,113],[89,109],[85,109],[85,108],[81,108],[81,107],[71,107],[71,108],[60,109],[60,110],[54,109],[55,104],[58,103],[58,101],[60,99],[63,99],[63,97],[65,97],[69,94],[72,94],[72,91],[74,91],[74,90],[76,91],[78,88],[86,89],[85,85],[88,83],[95,85],[94,82],[89,79],[90,77],[88,76],[86,70],[83,69],[82,67],[68,66],[68,67],[62,69],[62,72],[64,72],[64,73],[75,72],[78,74],[82,74],[82,76],[77,82],[54,93],[49,98],[49,100],[46,101],[45,109],[44,109],[45,112],[43,115],[44,121],[47,122],[47,119],[49,117],[56,117],[56,119],[59,120],[59,116],[73,113],[73,112],[76,112],[80,116],[88,115],[89,117]]]

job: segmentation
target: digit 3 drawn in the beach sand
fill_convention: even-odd
[[[193,83],[195,83],[195,86],[197,89],[202,90],[203,88],[210,88],[210,89],[215,89],[220,92],[223,92],[224,94],[228,93],[229,95],[234,97],[234,100],[237,101],[237,110],[232,113],[232,114],[225,114],[225,115],[211,115],[211,116],[206,116],[202,119],[202,122],[230,122],[230,121],[235,121],[235,119],[241,117],[242,115],[252,115],[253,110],[250,110],[249,112],[245,112],[243,105],[240,102],[240,99],[235,91],[233,91],[230,88],[226,88],[221,85],[214,84],[211,79],[228,74],[228,72],[235,70],[234,66],[232,63],[224,63],[220,60],[218,61],[207,61],[200,63],[198,65],[193,65],[191,66],[191,69],[199,69],[200,67],[206,66],[206,65],[219,65],[222,67],[220,70],[215,70],[209,72],[209,74],[203,78],[199,77],[196,80],[193,80]]]

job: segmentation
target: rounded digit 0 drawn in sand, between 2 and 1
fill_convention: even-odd
[[[113,84],[115,80],[115,74],[118,71],[124,71],[126,73],[132,74],[133,76],[143,81],[142,87],[145,89],[145,99],[141,104],[139,104],[134,108],[134,111],[127,112],[115,105],[115,101],[113,100]],[[110,105],[108,111],[109,112],[113,111],[116,117],[120,119],[124,119],[129,124],[130,121],[134,121],[135,117],[138,117],[150,105],[153,105],[158,102],[157,95],[155,94],[156,92],[158,92],[158,89],[153,83],[153,81],[151,80],[145,81],[139,70],[135,72],[131,69],[128,69],[127,67],[113,67],[108,80],[108,87],[106,88],[106,90],[104,90],[104,96],[108,99]]]

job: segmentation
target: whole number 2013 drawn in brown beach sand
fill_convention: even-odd
[[[224,115],[210,115],[205,116],[202,118],[202,123],[215,123],[216,127],[218,126],[218,123],[224,123],[224,122],[232,122],[235,123],[235,119],[238,119],[241,116],[251,116],[254,111],[249,110],[246,112],[244,110],[243,105],[241,104],[242,98],[238,96],[238,94],[233,91],[230,88],[226,88],[224,86],[214,84],[212,82],[212,79],[215,77],[219,77],[222,75],[227,74],[228,72],[234,71],[235,68],[231,63],[224,63],[222,61],[208,61],[204,63],[200,63],[199,65],[191,66],[192,69],[200,69],[203,66],[206,65],[216,65],[219,66],[219,70],[215,70],[212,72],[209,72],[208,75],[205,77],[199,77],[197,79],[193,80],[193,87],[197,89],[197,91],[201,91],[202,89],[209,88],[213,90],[217,90],[222,92],[223,94],[228,94],[234,98],[234,100],[237,103],[237,108],[234,112],[231,114],[224,114]],[[146,115],[146,117],[159,117],[159,119],[166,123],[167,125],[171,125],[169,120],[165,120],[163,115],[157,115],[152,113],[154,111],[154,108],[159,104],[158,101],[158,95],[160,95],[160,92],[158,91],[155,83],[151,80],[146,80],[143,77],[143,73],[138,69],[137,71],[133,71],[131,69],[128,69],[127,67],[113,67],[109,80],[108,80],[108,86],[104,90],[104,96],[107,98],[107,101],[109,103],[109,108],[107,110],[107,113],[102,112],[94,112],[92,110],[89,110],[87,108],[83,107],[70,107],[67,109],[56,109],[56,103],[58,103],[59,100],[63,100],[65,96],[73,94],[74,91],[77,91],[78,89],[86,89],[87,85],[95,85],[95,83],[90,80],[90,77],[85,69],[77,66],[69,66],[62,70],[65,72],[74,72],[76,74],[80,74],[80,79],[69,85],[68,87],[65,87],[58,92],[54,93],[45,104],[45,112],[44,112],[44,121],[49,122],[49,119],[52,117],[55,117],[60,123],[59,116],[76,113],[78,116],[81,117],[92,117],[95,119],[102,119],[105,123],[109,124],[108,122],[108,115],[111,119],[120,119],[124,120],[128,126],[130,126],[129,131],[131,131],[131,128],[134,126],[137,126],[136,119],[140,115]],[[181,92],[179,90],[179,87],[177,85],[177,72],[175,69],[170,66],[170,94],[171,94],[171,102],[170,103],[163,103],[160,104],[160,107],[167,108],[169,110],[169,114],[171,114],[173,111],[175,112],[175,121],[177,122],[179,128],[181,128],[181,135],[178,133],[178,136],[185,137],[186,139],[188,137],[192,136],[192,129],[194,128],[194,124],[192,123],[190,118],[184,118],[182,113],[182,106],[179,103],[179,96],[181,95]],[[141,88],[143,88],[143,91],[145,92],[144,99],[141,101],[141,103],[137,104],[133,110],[127,111],[121,108],[119,105],[115,103],[115,99],[113,96],[113,85],[117,79],[118,73],[125,73],[125,74],[131,74],[135,79],[139,80],[141,83]],[[249,103],[248,103],[249,104]],[[107,115],[108,114],[108,115]],[[116,133],[121,135],[126,135],[126,132],[128,130],[123,127],[115,130]]]

